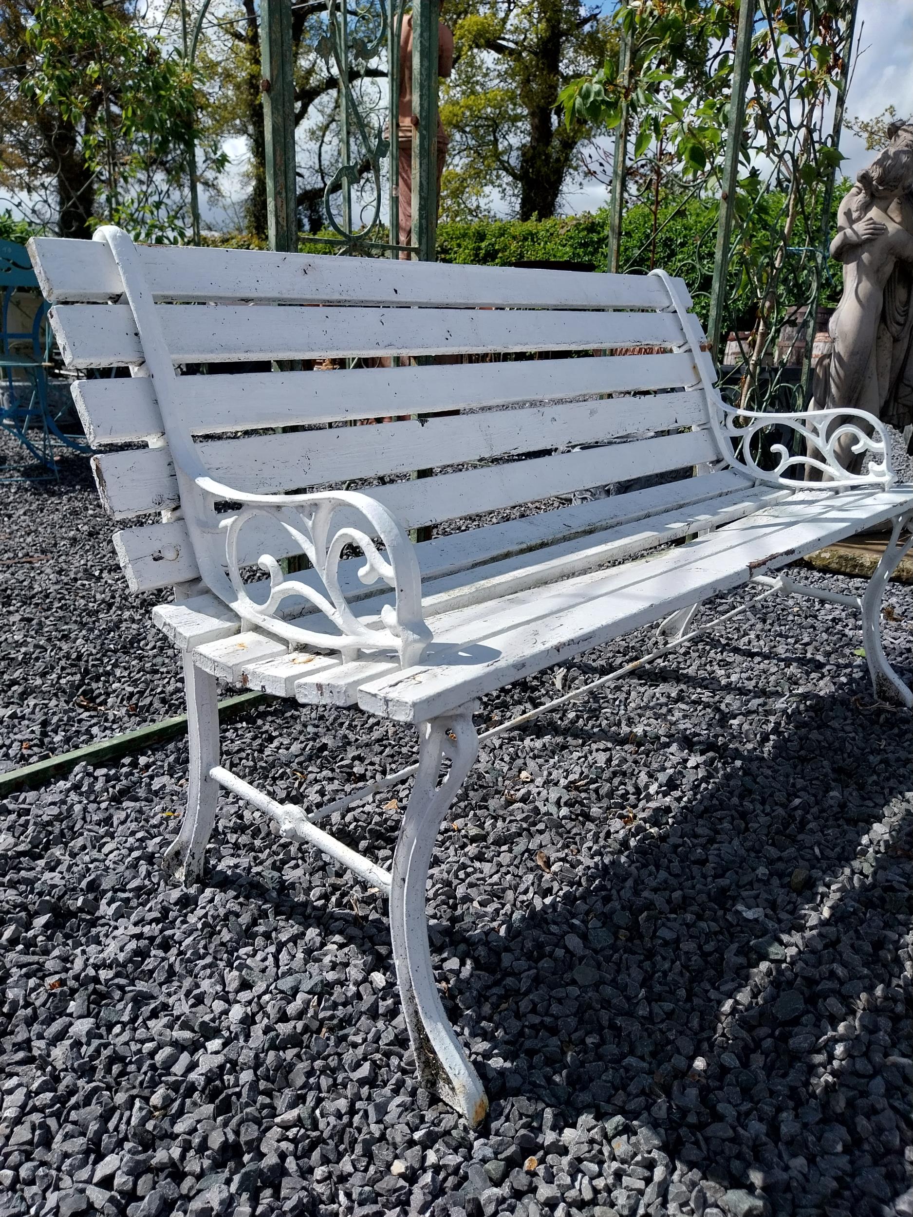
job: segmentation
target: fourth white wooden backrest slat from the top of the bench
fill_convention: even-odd
[[[599,443],[629,434],[634,427],[638,432],[671,431],[706,420],[704,393],[693,389],[649,398],[477,411],[425,422],[408,420],[217,439],[202,444],[200,455],[211,475],[224,484],[236,490],[274,494],[442,464],[460,465]],[[114,484],[121,483],[135,497],[139,511],[178,500],[166,448],[106,454],[95,467],[108,497]]]

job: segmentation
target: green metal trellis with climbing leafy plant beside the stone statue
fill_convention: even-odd
[[[621,240],[632,168],[627,111],[616,129],[607,268],[651,269],[657,236],[691,203],[700,204],[702,228],[680,248],[663,247],[662,265],[696,285],[693,295],[719,364],[726,336],[735,333],[732,383],[755,408],[797,408],[808,399],[856,9],[857,0],[739,5],[733,38],[712,52],[717,61],[732,57],[721,155],[696,179],[678,183],[661,215],[656,208],[648,240],[633,251]],[[637,32],[632,38],[633,46],[622,40],[620,61],[627,92],[644,71]],[[706,206],[715,201],[718,208]]]

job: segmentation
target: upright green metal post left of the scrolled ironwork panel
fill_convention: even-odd
[[[292,0],[262,0],[261,15],[261,89],[267,144],[269,247],[295,253],[298,248],[298,204],[295,178]]]

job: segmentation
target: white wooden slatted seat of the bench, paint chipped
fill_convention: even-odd
[[[312,703],[358,703],[402,722],[424,722],[452,711],[448,700],[455,697],[459,705],[466,684],[474,696],[483,696],[505,683],[505,671],[512,679],[530,675],[553,663],[556,652],[567,660],[716,591],[732,590],[757,574],[891,518],[909,501],[909,493],[856,492],[812,506],[789,492],[771,488],[727,498],[726,506],[716,512],[667,512],[538,549],[536,561],[527,560],[522,567],[512,560],[426,579],[424,604],[435,635],[426,662],[399,669],[391,660],[383,671],[374,672],[377,664],[347,664],[302,652],[293,656],[293,662],[308,671],[295,679],[295,669],[289,668],[292,683],[286,696]],[[659,548],[705,528],[713,529],[710,537],[643,556],[651,543]],[[605,570],[632,553],[640,561]],[[568,577],[568,570],[586,568],[587,556],[592,570]],[[562,559],[566,565],[556,573]],[[551,571],[544,570],[549,565]],[[517,571],[526,576],[521,581],[526,585],[519,590],[510,584],[510,574]],[[497,585],[499,578],[506,587]],[[545,595],[534,590],[543,585],[548,588]],[[475,589],[482,594],[474,595]],[[376,617],[380,599],[362,602],[365,618]],[[257,646],[252,651],[253,640]],[[278,656],[289,655],[281,644],[270,646],[261,635],[240,633],[236,626],[233,635],[226,633],[220,641],[207,639],[195,654],[201,666],[219,679],[270,692],[275,691],[271,664]]]

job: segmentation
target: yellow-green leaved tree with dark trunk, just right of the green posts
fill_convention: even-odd
[[[442,16],[455,44],[441,103],[450,134],[444,217],[484,214],[493,194],[521,219],[554,215],[592,134],[582,119],[560,124],[555,105],[570,80],[595,71],[610,51],[599,9],[577,0],[452,0]]]

